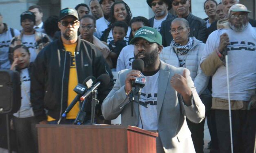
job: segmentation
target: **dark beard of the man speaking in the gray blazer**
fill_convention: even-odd
[[[140,53],[143,53],[145,55],[145,57],[142,58],[142,60],[144,61],[144,68],[149,68],[153,66],[158,58],[158,48],[156,48],[151,53],[146,53],[145,51]],[[137,55],[134,55],[135,59],[138,59]]]

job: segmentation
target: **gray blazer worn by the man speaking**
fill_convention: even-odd
[[[195,123],[201,122],[205,117],[205,106],[196,92],[189,70],[186,69],[186,75],[193,95],[191,106],[187,107],[182,97],[178,98],[177,92],[171,87],[171,77],[175,73],[182,74],[183,70],[185,68],[176,68],[163,61],[160,62],[157,97],[158,133],[163,149],[167,153],[194,153],[185,116]],[[129,103],[129,96],[125,94],[125,79],[130,71],[131,69],[127,69],[118,73],[116,84],[102,103],[102,114],[107,120],[115,119],[122,114],[122,125],[135,126],[138,125],[138,105],[134,103],[134,116],[131,116],[131,103]]]

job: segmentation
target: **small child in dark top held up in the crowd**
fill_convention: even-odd
[[[128,25],[123,21],[117,21],[112,25],[112,29],[114,40],[109,43],[109,49],[111,50],[109,57],[111,57],[113,63],[113,71],[116,71],[118,55],[120,54],[122,48],[126,46],[124,38],[128,31]]]

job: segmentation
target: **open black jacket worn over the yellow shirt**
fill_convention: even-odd
[[[69,68],[72,62],[69,53],[65,51],[60,38],[43,48],[34,61],[31,103],[39,122],[47,120],[47,115],[58,120],[67,108]],[[89,76],[97,78],[101,74],[109,74],[109,85],[98,89],[98,99],[102,103],[113,87],[113,75],[102,53],[93,44],[78,38],[75,61],[78,83]],[[90,110],[91,106],[88,107]],[[45,109],[48,110],[47,115]]]

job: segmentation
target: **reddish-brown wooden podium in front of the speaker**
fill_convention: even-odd
[[[158,133],[118,125],[36,125],[39,153],[156,153]]]

